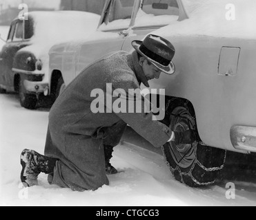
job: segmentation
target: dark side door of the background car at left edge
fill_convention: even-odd
[[[1,52],[1,86],[8,90],[14,90],[14,73],[12,72],[12,65],[15,54],[29,43],[24,41],[23,30],[24,23],[21,20],[15,20],[11,24],[8,41],[3,46]]]

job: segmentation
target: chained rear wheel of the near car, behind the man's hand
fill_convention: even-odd
[[[170,100],[168,105],[167,121],[172,131],[197,131],[195,115],[191,115],[185,102]],[[214,184],[226,160],[226,151],[205,146],[201,141],[179,145],[169,142],[162,150],[175,179],[190,187]]]

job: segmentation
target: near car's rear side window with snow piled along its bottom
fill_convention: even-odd
[[[137,13],[135,26],[168,25],[178,18],[177,0],[144,0]]]

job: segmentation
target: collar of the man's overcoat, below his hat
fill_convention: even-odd
[[[139,85],[143,83],[146,87],[149,87],[148,79],[146,78],[142,67],[139,65],[139,58],[136,51],[132,52],[132,54],[128,54],[128,65],[132,71],[135,72]]]

